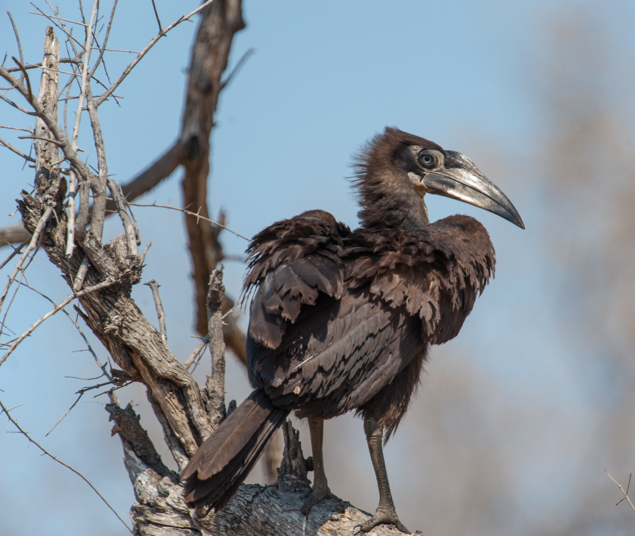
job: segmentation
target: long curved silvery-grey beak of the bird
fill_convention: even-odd
[[[428,193],[445,195],[489,210],[525,229],[523,219],[507,196],[467,156],[457,151],[446,151],[445,169],[424,175],[420,185]]]

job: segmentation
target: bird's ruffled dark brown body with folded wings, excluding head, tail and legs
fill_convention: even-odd
[[[493,269],[485,228],[467,216],[351,232],[314,210],[265,229],[250,252],[251,385],[298,416],[361,408],[389,431],[427,345],[458,333]]]

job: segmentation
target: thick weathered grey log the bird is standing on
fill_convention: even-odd
[[[119,409],[119,412],[124,411],[130,409]],[[131,422],[138,426],[134,416]],[[117,426],[113,432],[119,432]],[[243,484],[229,504],[218,512],[188,509],[183,502],[182,486],[175,483],[170,474],[161,476],[150,467],[135,451],[133,443],[120,432],[124,463],[135,490],[131,517],[137,533],[143,536],[357,534],[359,526],[370,518],[370,514],[340,498],[322,500],[312,508],[308,518],[300,513],[300,507],[311,493],[307,460],[304,460],[298,432],[291,422],[283,429],[284,462],[276,483],[271,486]],[[396,528],[386,525],[375,527],[371,534],[403,536]]]

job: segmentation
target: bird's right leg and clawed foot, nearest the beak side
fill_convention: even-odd
[[[384,427],[378,425],[377,421],[372,417],[365,417],[364,432],[366,432],[368,450],[370,451],[370,458],[373,460],[373,469],[375,469],[375,476],[377,477],[379,505],[377,510],[375,510],[375,515],[361,525],[361,531],[368,532],[374,526],[380,525],[380,523],[389,523],[396,526],[401,532],[410,534],[410,531],[399,521],[394,502],[392,502],[391,486],[388,483],[388,473],[386,472],[386,464],[384,462],[384,450],[382,449]]]

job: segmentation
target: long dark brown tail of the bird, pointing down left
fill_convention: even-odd
[[[289,411],[274,407],[257,389],[214,430],[181,473],[185,502],[224,507],[258,461]]]

